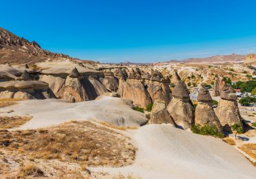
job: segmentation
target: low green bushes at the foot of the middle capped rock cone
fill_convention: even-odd
[[[205,135],[205,136],[214,136],[223,138],[224,135],[221,132],[218,132],[216,125],[204,125],[195,124],[191,127],[191,131],[195,134]]]

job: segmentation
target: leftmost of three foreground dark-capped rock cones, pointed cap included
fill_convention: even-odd
[[[188,129],[195,123],[195,109],[189,99],[189,94],[184,88],[184,82],[177,82],[172,100],[168,104],[167,110],[171,114],[177,127]]]

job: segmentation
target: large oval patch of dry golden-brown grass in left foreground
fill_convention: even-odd
[[[131,139],[89,121],[64,123],[38,130],[0,130],[0,148],[31,160],[57,159],[87,166],[132,164],[136,148]]]

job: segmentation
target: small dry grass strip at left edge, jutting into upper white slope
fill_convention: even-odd
[[[30,117],[30,116],[0,117],[0,129],[19,127],[20,125],[26,123],[27,121],[30,121],[31,118],[32,117]]]

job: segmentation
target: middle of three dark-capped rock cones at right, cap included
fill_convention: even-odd
[[[200,88],[197,96],[198,104],[195,109],[195,123],[200,125],[215,125],[221,132],[221,123],[212,107],[212,97],[207,89]]]

